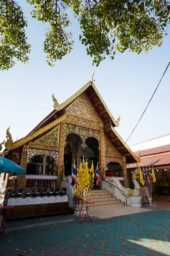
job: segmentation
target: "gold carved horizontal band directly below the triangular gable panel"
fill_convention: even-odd
[[[68,124],[79,125],[79,126],[91,128],[94,130],[100,130],[100,122],[99,121],[84,119],[84,118],[78,117],[78,116],[73,116],[73,115],[67,114],[66,122]]]

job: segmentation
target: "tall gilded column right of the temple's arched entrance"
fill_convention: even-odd
[[[99,151],[99,172],[105,177],[105,134],[103,123],[100,123],[100,151]]]

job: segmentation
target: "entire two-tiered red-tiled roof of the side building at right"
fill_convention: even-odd
[[[135,155],[139,151],[134,152]],[[141,151],[141,163],[140,167],[150,166],[150,167],[164,167],[170,166],[170,144],[163,145],[156,148],[144,149]],[[131,163],[127,165],[127,169],[136,168],[136,164]]]

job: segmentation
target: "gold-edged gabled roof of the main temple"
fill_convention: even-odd
[[[9,143],[7,141],[5,144],[6,148],[8,148],[8,150],[18,148],[21,145],[28,143],[30,140],[33,140],[47,131],[50,131],[50,129],[65,119],[65,108],[74,102],[74,100],[77,99],[82,93],[86,93],[96,113],[99,115],[99,118],[104,124],[105,135],[111,141],[112,145],[120,154],[127,158],[128,163],[135,163],[137,160],[136,155],[130,150],[125,141],[122,140],[120,135],[114,129],[115,126],[119,126],[120,117],[117,120],[113,118],[111,112],[102,99],[102,96],[99,94],[94,83],[91,81],[85,84],[85,86],[83,86],[77,93],[60,105],[53,96],[54,102],[56,100],[56,103],[54,103],[55,109],[47,117],[45,117],[45,119],[43,119],[42,122],[40,122],[26,137],[17,140],[16,142],[11,141]]]

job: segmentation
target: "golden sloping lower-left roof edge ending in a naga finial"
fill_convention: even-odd
[[[32,134],[26,136],[23,139],[17,140],[16,142],[13,143],[11,134],[9,132],[9,128],[8,128],[8,133],[6,133],[6,137],[7,137],[7,141],[5,143],[5,146],[8,150],[12,150],[15,148],[19,148],[21,145],[28,143],[30,140],[36,138],[37,136],[43,134],[44,132],[50,130],[51,128],[55,127],[56,125],[58,125],[60,122],[62,122],[63,120],[65,120],[66,118],[66,114],[59,117],[58,119],[56,119],[55,121],[51,122],[48,125],[45,125],[44,127],[40,128],[39,130],[33,132]]]

